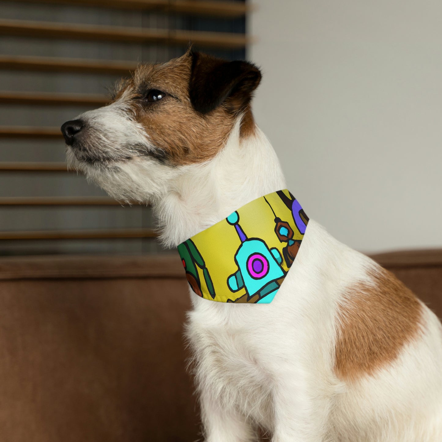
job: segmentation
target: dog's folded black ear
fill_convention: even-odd
[[[190,52],[192,57],[189,96],[192,106],[207,114],[225,103],[227,110],[243,110],[261,81],[261,72],[247,61],[225,61]]]

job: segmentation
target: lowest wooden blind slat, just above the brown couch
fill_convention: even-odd
[[[116,238],[155,238],[152,229],[25,230],[0,232],[0,240],[89,240]]]

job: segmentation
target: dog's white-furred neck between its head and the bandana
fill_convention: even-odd
[[[242,138],[239,126],[213,160],[183,167],[154,206],[166,246],[176,247],[244,204],[286,187],[267,137],[256,127]]]

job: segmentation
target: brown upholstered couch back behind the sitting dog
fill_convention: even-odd
[[[442,251],[374,256],[442,316]],[[178,255],[0,258],[0,440],[194,441]]]

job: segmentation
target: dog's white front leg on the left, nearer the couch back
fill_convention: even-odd
[[[228,409],[209,392],[200,397],[201,418],[206,442],[255,442],[256,432],[245,416]]]

